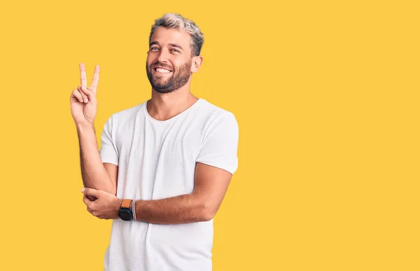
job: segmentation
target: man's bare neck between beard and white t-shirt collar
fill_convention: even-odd
[[[152,98],[147,102],[147,111],[156,120],[168,120],[185,111],[197,102],[189,85],[169,93],[160,93],[152,89]]]

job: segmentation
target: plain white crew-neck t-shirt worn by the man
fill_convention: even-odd
[[[235,116],[205,99],[169,120],[155,120],[146,102],[114,113],[104,125],[102,162],[118,165],[117,197],[159,200],[189,194],[195,163],[237,170]],[[210,271],[211,221],[162,225],[113,220],[106,271]]]

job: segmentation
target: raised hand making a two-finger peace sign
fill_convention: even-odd
[[[99,65],[94,67],[92,84],[87,88],[85,64],[80,63],[80,83],[70,96],[71,116],[76,124],[93,123],[97,112],[97,86],[99,83]]]

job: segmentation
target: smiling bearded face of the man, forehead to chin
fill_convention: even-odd
[[[169,93],[188,83],[195,72],[190,43],[188,32],[165,27],[155,30],[146,60],[147,77],[154,90]]]

